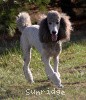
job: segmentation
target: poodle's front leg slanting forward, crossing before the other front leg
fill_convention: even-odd
[[[48,76],[48,78],[58,87],[62,88],[61,85],[61,79],[59,78],[58,74],[54,72],[52,66],[50,65],[50,59],[49,57],[43,56],[42,58],[44,64],[45,64],[45,71]]]

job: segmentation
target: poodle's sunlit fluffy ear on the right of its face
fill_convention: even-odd
[[[62,17],[60,20],[59,33],[58,33],[58,40],[61,40],[61,41],[70,40],[71,30],[72,30],[72,26],[69,20],[69,16],[67,16],[66,14],[62,14]]]

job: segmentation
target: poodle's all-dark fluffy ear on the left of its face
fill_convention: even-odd
[[[48,28],[47,18],[43,19],[39,28],[39,39],[42,43],[48,43],[51,40],[51,34]]]

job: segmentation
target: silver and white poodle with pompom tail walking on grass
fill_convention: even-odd
[[[35,47],[42,56],[47,77],[57,86],[61,84],[58,72],[59,55],[62,51],[62,42],[70,40],[72,30],[71,22],[66,14],[57,11],[49,11],[39,25],[31,25],[30,16],[21,12],[17,16],[17,27],[21,31],[20,44],[23,51],[24,74],[28,82],[33,83],[33,75],[30,70],[31,48]],[[54,68],[50,64],[53,57]]]

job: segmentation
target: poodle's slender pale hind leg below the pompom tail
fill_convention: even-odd
[[[24,38],[21,39],[21,48],[23,51],[23,59],[24,59],[24,66],[23,66],[23,71],[25,78],[28,80],[28,82],[33,83],[33,76],[31,73],[31,70],[29,68],[30,65],[30,59],[31,59],[31,46],[29,45],[29,42],[24,41]]]

